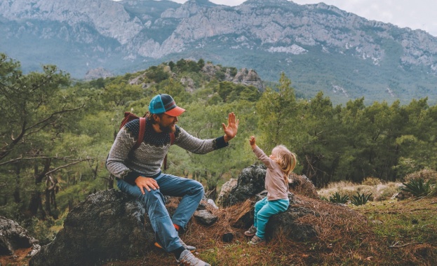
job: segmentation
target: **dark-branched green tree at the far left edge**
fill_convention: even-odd
[[[19,62],[0,54],[1,172],[6,176],[10,171],[15,173],[15,178],[9,177],[7,184],[15,183],[13,198],[17,203],[24,200],[20,190],[29,184],[22,176],[32,176],[36,186],[30,199],[27,198],[32,215],[42,207],[39,184],[43,179],[86,160],[72,158],[71,153],[50,152],[53,140],[71,125],[69,116],[85,106],[64,93],[69,84],[69,75],[55,66],[43,66],[42,73],[23,75]],[[53,185],[47,183],[47,186]],[[50,209],[46,211],[43,215],[51,215]]]

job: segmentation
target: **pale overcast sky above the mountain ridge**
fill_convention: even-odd
[[[115,0],[117,1],[117,0]],[[172,0],[184,3],[187,0]],[[226,6],[238,6],[246,0],[209,0]],[[293,0],[295,3],[326,3],[368,20],[391,23],[398,27],[422,29],[437,36],[436,0]]]

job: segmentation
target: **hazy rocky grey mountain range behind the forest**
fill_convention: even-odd
[[[84,78],[93,69],[122,74],[202,58],[267,81],[284,72],[295,90],[323,91],[335,103],[437,103],[436,37],[324,3],[4,0],[0,34],[0,52],[24,71],[55,64]]]

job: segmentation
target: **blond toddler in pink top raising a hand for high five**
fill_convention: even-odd
[[[295,169],[296,155],[283,145],[278,145],[267,155],[255,144],[255,137],[249,140],[252,150],[267,166],[265,188],[267,197],[255,204],[255,218],[252,227],[244,235],[253,237],[248,244],[265,244],[265,228],[270,216],[288,209],[288,174]]]

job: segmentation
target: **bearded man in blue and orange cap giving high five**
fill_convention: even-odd
[[[209,265],[196,258],[179,238],[177,230],[184,230],[196,211],[204,190],[201,183],[192,179],[163,174],[161,165],[174,144],[192,153],[209,153],[228,146],[236,136],[238,123],[234,113],[229,113],[228,125],[222,123],[224,136],[217,139],[197,139],[177,126],[177,117],[185,110],[175,104],[168,94],[156,95],[149,104],[150,116],[146,120],[144,139],[139,148],[131,151],[140,130],[139,119],[132,120],[121,128],[107,158],[107,169],[117,179],[121,191],[137,197],[147,207],[152,228],[156,235],[156,246],[175,254],[183,265]],[[175,214],[170,218],[163,195],[182,197]]]

